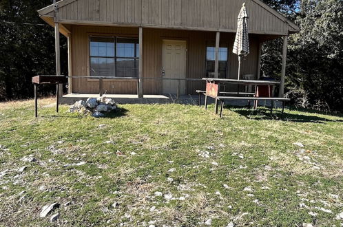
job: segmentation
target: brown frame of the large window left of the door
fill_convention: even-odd
[[[114,39],[114,56],[92,56],[91,55],[91,39],[92,37],[95,37],[95,38],[113,38]],[[117,56],[117,51],[116,51],[116,48],[117,48],[117,39],[136,39],[136,43],[134,43],[134,56],[135,57],[118,57]],[[113,58],[114,59],[114,76],[109,76],[109,77],[118,77],[118,78],[121,78],[119,76],[116,76],[117,75],[117,58],[124,58],[124,59],[134,59],[134,60],[138,60],[138,67],[139,67],[139,51],[137,52],[137,45],[138,45],[138,48],[141,48],[139,46],[139,40],[138,40],[138,37],[137,36],[130,36],[130,35],[127,35],[127,36],[121,36],[121,35],[98,35],[98,34],[89,34],[88,35],[88,45],[87,45],[87,53],[88,53],[88,60],[87,60],[87,63],[88,63],[88,69],[87,69],[87,74],[89,77],[92,77],[92,67],[91,67],[91,58]],[[139,49],[138,49],[139,50]],[[106,76],[103,76],[103,77],[106,77]],[[129,76],[127,78],[138,78],[138,74],[137,76]],[[108,78],[107,80],[114,80],[113,78]],[[87,78],[88,81],[97,81],[98,79],[96,78]]]

